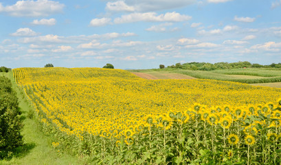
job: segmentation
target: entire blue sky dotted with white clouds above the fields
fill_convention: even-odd
[[[281,0],[0,0],[0,65],[281,63]]]

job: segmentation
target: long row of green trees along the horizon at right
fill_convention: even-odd
[[[216,69],[237,69],[245,67],[265,67],[265,68],[281,68],[281,63],[272,63],[271,65],[260,65],[258,63],[249,63],[248,61],[239,61],[237,63],[176,63],[175,65],[168,66],[168,68],[179,68],[179,69],[188,69],[188,70],[216,70]]]

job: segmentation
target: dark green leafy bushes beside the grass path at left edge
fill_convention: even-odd
[[[20,114],[18,98],[10,79],[0,76],[0,159],[23,144]]]

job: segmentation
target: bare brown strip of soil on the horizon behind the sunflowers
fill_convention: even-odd
[[[132,72],[132,74],[135,74],[136,76],[139,76],[141,78],[145,78],[148,80],[158,80],[158,79],[194,79],[191,76],[187,76],[184,74],[176,74],[176,73],[168,73],[168,72],[147,72],[147,73],[141,73],[141,72]]]

